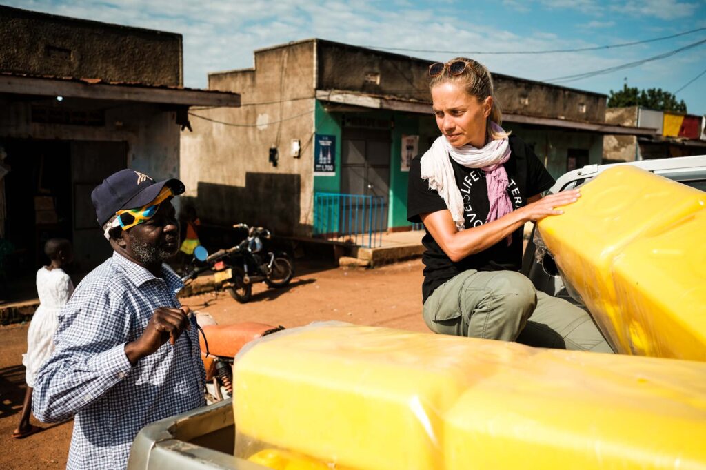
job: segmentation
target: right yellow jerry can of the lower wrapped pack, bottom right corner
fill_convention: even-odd
[[[705,363],[544,350],[445,415],[445,469],[706,469]]]

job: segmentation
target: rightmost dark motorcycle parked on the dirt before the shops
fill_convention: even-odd
[[[294,267],[287,253],[263,252],[263,240],[272,239],[270,231],[263,227],[248,227],[246,224],[235,224],[233,228],[248,231],[247,238],[230,256],[232,275],[226,281],[226,289],[233,299],[240,303],[249,301],[256,282],[265,282],[268,287],[275,289],[289,284],[294,276]],[[225,272],[222,279],[226,280],[227,275],[229,273]]]

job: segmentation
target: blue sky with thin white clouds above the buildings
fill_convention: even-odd
[[[205,88],[210,71],[253,66],[254,49],[309,37],[443,51],[400,53],[444,61],[469,51],[575,49],[706,28],[706,0],[0,0],[0,4],[179,32],[184,35],[184,85],[195,88]],[[706,29],[599,51],[472,56],[493,72],[549,80],[639,61],[701,40],[706,40]],[[700,44],[666,59],[563,84],[608,94],[627,80],[630,86],[675,92],[705,70],[706,44]],[[706,74],[677,97],[690,113],[706,114],[705,91]]]

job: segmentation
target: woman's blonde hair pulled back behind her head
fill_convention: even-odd
[[[490,125],[491,121],[493,121],[498,124],[498,126],[502,126],[503,112],[501,112],[500,104],[498,104],[498,101],[495,99],[493,93],[493,77],[488,68],[480,62],[468,59],[467,57],[455,57],[448,61],[447,64],[453,64],[453,62],[456,61],[462,61],[468,65],[459,75],[451,75],[449,67],[446,66],[441,75],[431,78],[429,90],[442,83],[451,82],[460,84],[469,95],[476,97],[481,103],[484,102],[487,97],[492,97],[493,107],[486,121],[486,141],[508,137],[508,135],[510,135],[509,132],[494,131]]]

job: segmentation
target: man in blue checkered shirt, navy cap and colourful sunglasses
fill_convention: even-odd
[[[203,406],[198,332],[163,265],[179,250],[172,197],[184,183],[112,174],[91,195],[114,253],[59,313],[56,349],[37,375],[32,411],[75,416],[68,469],[123,469],[146,424]]]

